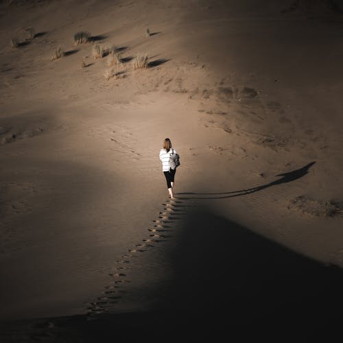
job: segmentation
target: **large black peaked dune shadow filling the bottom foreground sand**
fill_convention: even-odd
[[[145,294],[156,300],[154,308],[95,320],[3,323],[1,338],[12,339],[24,329],[45,342],[108,342],[114,333],[126,342],[143,336],[150,342],[332,342],[340,334],[340,268],[299,255],[206,208],[188,213],[178,232],[176,248],[166,255],[173,276]]]

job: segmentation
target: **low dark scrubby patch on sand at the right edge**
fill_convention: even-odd
[[[298,196],[289,202],[289,209],[296,209],[303,213],[316,215],[317,217],[334,217],[343,213],[339,204],[331,200],[311,200],[305,196]]]

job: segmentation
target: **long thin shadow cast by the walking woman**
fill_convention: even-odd
[[[298,178],[302,178],[306,174],[309,173],[309,168],[314,165],[316,161],[311,162],[304,167],[300,169],[296,169],[294,171],[289,171],[284,174],[278,174],[276,176],[281,176],[278,180],[269,182],[265,185],[252,187],[248,189],[239,189],[238,191],[228,191],[228,192],[222,192],[222,193],[191,193],[191,192],[184,192],[184,193],[176,193],[178,196],[205,196],[201,198],[191,197],[191,198],[180,198],[180,199],[224,199],[224,198],[234,198],[236,196],[245,196],[246,194],[255,193],[257,191],[261,191],[263,189],[266,189],[268,187],[281,185],[282,183],[288,183],[292,182],[294,180],[298,180]],[[215,197],[206,197],[206,196],[215,196]]]

